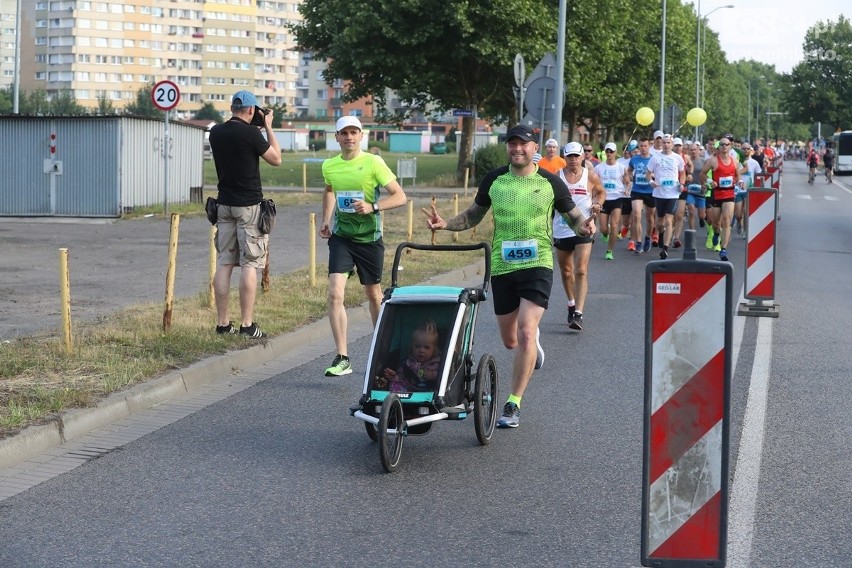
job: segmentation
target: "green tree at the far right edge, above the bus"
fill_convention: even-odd
[[[805,34],[805,59],[783,79],[783,107],[797,122],[852,126],[852,25],[843,15]]]

